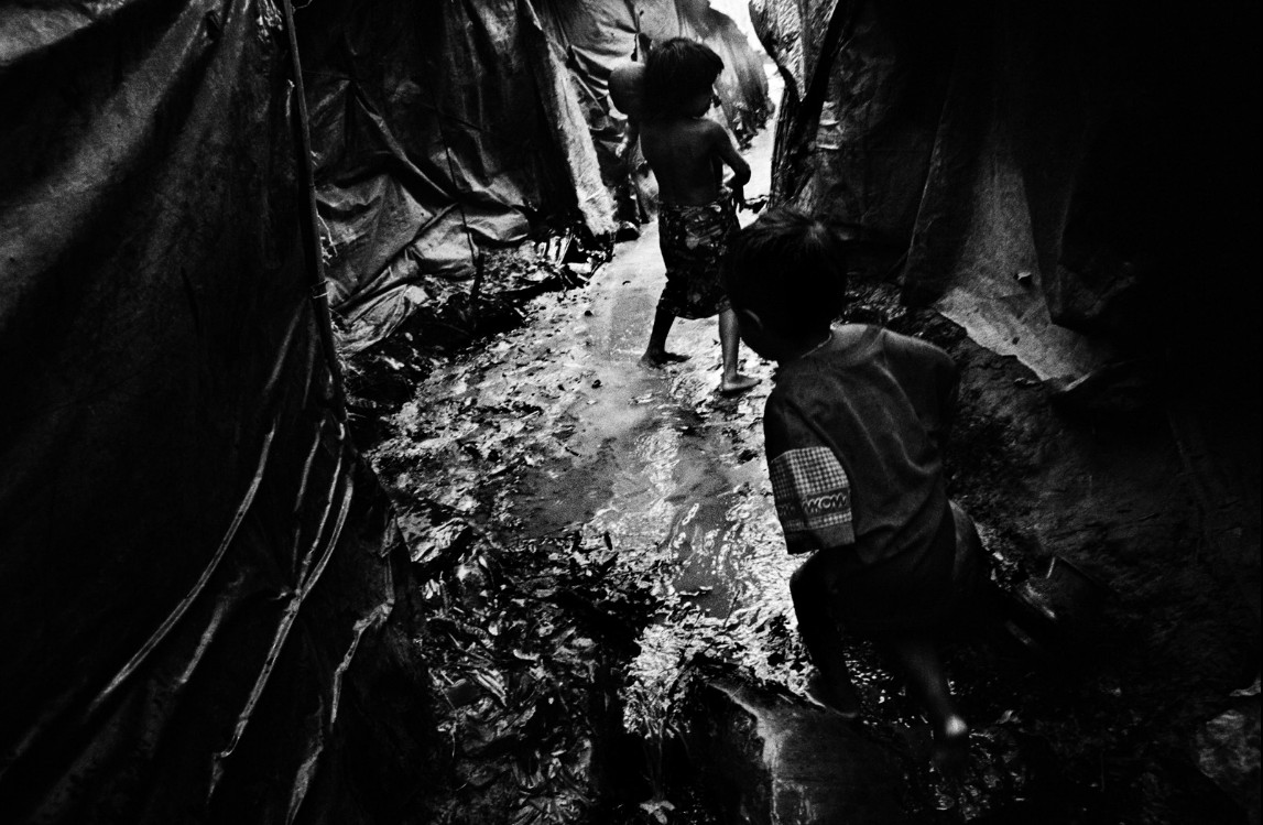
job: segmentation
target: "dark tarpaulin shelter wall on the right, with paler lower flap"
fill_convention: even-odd
[[[902,250],[907,301],[1056,379],[1144,327],[1257,327],[1216,294],[1258,296],[1257,6],[751,5],[787,77],[774,198]]]

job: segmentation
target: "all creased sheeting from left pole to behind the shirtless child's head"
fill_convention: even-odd
[[[301,10],[333,304],[357,350],[475,272],[477,248],[575,214],[613,232],[624,124],[608,78],[643,39],[725,61],[730,125],[767,119],[762,64],[705,0],[346,0]]]

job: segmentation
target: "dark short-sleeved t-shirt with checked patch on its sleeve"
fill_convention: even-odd
[[[782,365],[763,428],[791,553],[853,545],[873,565],[931,552],[956,376],[937,346],[855,325]]]

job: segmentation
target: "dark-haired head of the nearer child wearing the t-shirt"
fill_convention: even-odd
[[[794,208],[764,212],[729,249],[724,287],[773,332],[802,340],[846,306],[847,251],[858,227]]]

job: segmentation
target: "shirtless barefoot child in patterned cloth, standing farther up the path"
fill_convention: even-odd
[[[667,350],[674,320],[719,315],[720,392],[733,394],[759,379],[738,370],[736,316],[720,283],[729,240],[738,229],[734,193],[722,184],[724,166],[733,169],[738,201],[750,179],[750,167],[731,136],[706,117],[722,68],[715,52],[687,38],[657,44],[645,59],[640,148],[658,181],[658,243],[667,286],[640,360],[649,366],[686,360]]]

